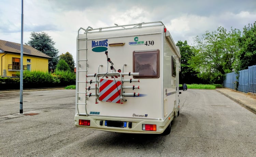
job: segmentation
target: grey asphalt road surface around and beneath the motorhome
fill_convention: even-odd
[[[256,156],[256,115],[215,90],[188,89],[169,135],[74,126],[75,90],[0,92],[0,156]]]

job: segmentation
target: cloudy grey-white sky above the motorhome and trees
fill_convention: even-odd
[[[21,43],[22,0],[0,0],[0,40]],[[256,0],[24,0],[23,43],[45,32],[59,55],[76,59],[80,27],[109,27],[162,21],[174,42],[224,27],[243,30],[256,21]]]

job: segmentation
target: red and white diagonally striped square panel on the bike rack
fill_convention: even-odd
[[[120,103],[121,81],[100,79],[100,101]]]

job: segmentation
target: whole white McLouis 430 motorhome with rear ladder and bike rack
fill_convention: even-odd
[[[162,22],[80,28],[75,125],[169,134],[180,112],[180,58]]]

